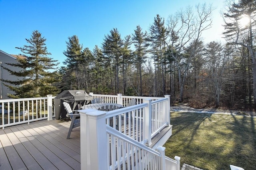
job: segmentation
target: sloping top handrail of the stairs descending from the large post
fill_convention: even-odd
[[[157,152],[154,149],[151,149],[145,145],[143,145],[142,143],[128,137],[127,135],[124,135],[123,133],[121,133],[120,131],[117,131],[116,129],[110,127],[109,125],[106,125],[106,131],[107,133],[109,133],[110,135],[114,135],[115,137],[118,137],[119,139],[122,139],[128,143],[131,143],[133,145],[136,145],[137,147],[139,147],[140,149],[146,150],[147,152],[150,152],[152,154],[156,154],[157,156],[161,156],[161,154],[159,152]]]

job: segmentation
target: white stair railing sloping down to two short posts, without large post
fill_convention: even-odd
[[[107,155],[112,155],[108,157],[109,170],[118,169],[127,163],[128,163],[127,166],[129,167],[131,166],[132,169],[133,169],[133,166],[134,168],[147,169],[148,166],[152,167],[152,162],[151,162],[152,160],[154,161],[153,164],[155,164],[153,169],[161,168],[163,170],[180,170],[180,157],[175,156],[175,160],[173,160],[165,156],[164,154],[165,147],[158,147],[157,150],[160,151],[158,152],[154,149],[151,149],[150,147],[146,147],[144,145],[146,141],[138,142],[108,125],[106,125],[106,133],[110,135],[110,136],[108,135],[108,137],[110,137],[110,148],[108,149]],[[116,137],[116,139],[111,137],[111,135],[113,137]],[[117,143],[116,144],[113,143],[112,140],[116,141]],[[112,145],[118,145],[116,150],[115,149],[113,150]],[[131,147],[128,147],[128,149],[130,150],[127,149],[127,146],[131,146]],[[132,147],[132,146],[135,146],[135,147]],[[140,154],[140,150],[142,150],[141,151],[142,154]],[[152,155],[150,156],[150,154]],[[116,157],[116,156],[119,156],[119,157]],[[132,157],[134,156],[136,157],[136,159],[139,159],[139,160],[138,161],[136,160],[135,165],[134,164],[130,165],[129,164],[130,160],[127,161],[127,159],[133,159]],[[155,158],[154,156],[156,156],[157,158]]]

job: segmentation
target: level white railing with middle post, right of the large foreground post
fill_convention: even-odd
[[[143,99],[142,104],[116,109],[106,113],[107,125],[128,135],[136,141],[151,139],[164,127],[170,125],[170,98],[160,98],[152,102]]]

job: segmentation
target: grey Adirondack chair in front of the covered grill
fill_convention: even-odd
[[[63,102],[63,105],[67,111],[67,115],[71,119],[70,127],[68,130],[68,136],[67,136],[67,139],[69,139],[72,129],[80,126],[80,114],[77,112],[77,110],[72,110],[70,105],[67,102]]]

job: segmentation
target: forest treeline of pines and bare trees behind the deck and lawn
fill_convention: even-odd
[[[206,4],[167,19],[156,15],[148,30],[138,25],[124,38],[113,28],[94,49],[84,48],[76,35],[68,37],[66,66],[49,76],[56,82],[48,84],[58,87],[52,93],[79,89],[128,96],[170,94],[172,103],[189,102],[198,108],[255,109],[256,2],[230,1],[227,7],[226,43],[203,41],[214,10]],[[244,17],[250,22],[241,25]]]

